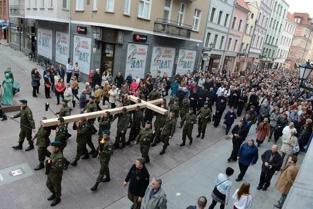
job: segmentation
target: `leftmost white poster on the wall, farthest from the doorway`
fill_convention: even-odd
[[[37,53],[46,58],[52,59],[52,30],[38,28]]]

